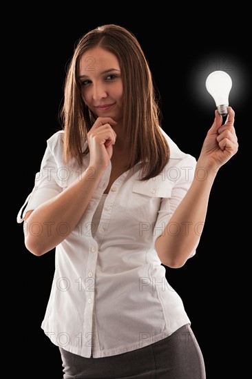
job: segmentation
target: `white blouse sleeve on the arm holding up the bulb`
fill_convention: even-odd
[[[174,214],[176,208],[184,198],[191,182],[193,181],[193,176],[196,170],[196,158],[191,155],[187,155],[182,161],[170,162],[169,168],[166,173],[167,187],[171,187],[169,190],[170,196],[164,197],[161,199],[160,209],[158,211],[158,217],[154,227],[154,241],[161,236],[165,231],[167,232],[167,225],[171,219],[171,216]],[[172,184],[171,184],[172,183]],[[176,225],[176,223],[169,225],[169,233],[174,234],[178,233],[178,229],[181,225]],[[182,225],[187,227],[190,225]],[[195,255],[196,251],[191,254]]]

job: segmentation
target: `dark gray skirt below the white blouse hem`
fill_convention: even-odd
[[[63,379],[205,379],[204,359],[190,325],[127,353],[83,358],[59,348]]]

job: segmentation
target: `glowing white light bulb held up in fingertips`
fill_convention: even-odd
[[[216,102],[218,112],[222,116],[227,116],[227,107],[229,106],[229,92],[232,88],[232,79],[224,71],[213,71],[206,80],[207,91]]]

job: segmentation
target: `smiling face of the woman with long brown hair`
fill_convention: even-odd
[[[98,117],[123,118],[123,81],[114,54],[103,48],[87,50],[80,59],[78,81],[87,107]]]

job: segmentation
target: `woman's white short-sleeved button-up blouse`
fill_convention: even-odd
[[[63,133],[48,139],[18,223],[24,221],[25,212],[59,194],[80,174],[73,165],[63,164]],[[196,159],[162,133],[170,159],[161,174],[140,181],[138,163],[103,196],[109,163],[76,229],[56,246],[55,274],[41,327],[55,345],[74,354],[100,358],[125,353],[166,338],[190,322],[165,277],[155,241],[163,233],[176,236],[179,228],[190,227],[165,228],[191,185]],[[89,161],[88,154],[83,170]],[[101,214],[96,217],[98,204]],[[67,223],[61,224],[59,233],[65,233]],[[38,225],[34,230],[39,233]]]

